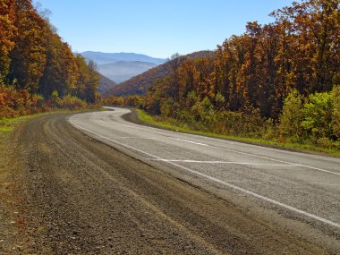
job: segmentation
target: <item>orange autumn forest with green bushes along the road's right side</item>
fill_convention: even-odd
[[[214,57],[172,60],[146,96],[106,103],[195,130],[340,149],[339,1],[302,1],[270,15],[275,21],[248,22]]]

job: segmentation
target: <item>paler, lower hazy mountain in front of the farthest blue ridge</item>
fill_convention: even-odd
[[[111,64],[99,64],[98,72],[106,76],[107,78],[117,83],[129,80],[133,76],[146,72],[150,68],[157,66],[157,64],[149,62],[126,62],[119,61]]]

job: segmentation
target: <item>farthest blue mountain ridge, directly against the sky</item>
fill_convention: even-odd
[[[82,52],[83,55],[87,59],[91,59],[97,64],[112,64],[119,61],[125,62],[148,62],[152,64],[163,64],[166,62],[164,58],[156,58],[151,57],[149,55],[142,55],[136,53],[104,53],[104,52],[95,52],[95,51],[85,51]]]

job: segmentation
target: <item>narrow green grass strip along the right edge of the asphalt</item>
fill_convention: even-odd
[[[138,117],[140,118],[140,121],[144,123],[149,123],[161,128],[165,128],[168,130],[173,130],[176,132],[189,132],[193,134],[199,134],[204,135],[208,137],[214,137],[214,138],[221,138],[225,140],[234,140],[234,141],[242,141],[245,143],[251,143],[256,145],[262,145],[262,146],[268,146],[272,148],[278,148],[278,149],[290,149],[293,151],[301,151],[301,152],[307,152],[307,153],[318,153],[328,156],[335,156],[340,157],[340,151],[336,149],[325,149],[320,148],[311,144],[301,144],[301,143],[280,143],[276,140],[265,140],[261,138],[248,138],[248,137],[238,137],[238,136],[232,136],[232,135],[225,135],[225,134],[218,134],[213,132],[203,132],[203,131],[197,131],[192,130],[186,125],[183,125],[181,123],[170,123],[167,121],[157,121],[155,118],[151,115],[148,115],[143,110],[138,109],[137,110]]]

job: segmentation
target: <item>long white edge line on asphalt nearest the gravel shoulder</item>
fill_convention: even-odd
[[[72,116],[72,117],[73,117],[73,116]],[[92,133],[92,134],[94,134],[94,135],[96,135],[96,136],[98,136],[98,137],[100,137],[100,138],[102,138],[102,139],[112,141],[112,142],[114,142],[115,144],[121,145],[121,146],[123,146],[123,147],[125,147],[125,148],[133,149],[133,150],[138,151],[138,152],[140,152],[140,153],[142,153],[142,154],[144,154],[144,155],[147,155],[147,156],[149,156],[149,157],[153,157],[153,158],[157,158],[157,159],[162,159],[161,157],[157,157],[156,155],[152,155],[152,154],[150,154],[149,152],[143,151],[143,150],[141,150],[141,149],[134,148],[134,147],[132,147],[132,146],[130,146],[130,145],[123,144],[122,142],[119,142],[119,141],[116,141],[116,140],[109,139],[109,138],[107,138],[107,137],[105,137],[105,136],[103,136],[103,135],[100,135],[100,134],[96,133],[96,132],[91,132],[91,131],[89,131],[88,129],[81,127],[80,125],[78,125],[78,124],[76,124],[76,123],[73,123],[73,122],[72,122],[72,117],[69,119],[70,123],[72,123],[73,126],[78,127],[79,129],[81,129],[81,130],[83,130],[83,131]],[[171,164],[171,165],[173,165],[173,166],[177,166],[177,167],[179,167],[179,168],[182,168],[183,170],[186,170],[186,171],[190,172],[191,174],[198,175],[198,176],[203,177],[203,178],[205,178],[205,179],[207,179],[207,180],[209,180],[209,181],[213,181],[213,182],[215,182],[215,183],[223,184],[223,185],[225,185],[225,186],[227,186],[227,187],[229,187],[229,188],[233,188],[233,189],[236,190],[236,191],[242,191],[243,193],[249,194],[249,195],[251,195],[251,196],[253,196],[253,197],[256,197],[256,198],[258,198],[258,199],[260,199],[260,200],[268,201],[268,202],[270,202],[270,203],[272,203],[272,204],[275,204],[275,205],[277,205],[277,206],[280,206],[280,207],[282,207],[282,208],[286,208],[286,209],[292,210],[293,212],[302,214],[303,216],[311,217],[311,218],[313,218],[313,219],[319,220],[320,222],[323,222],[323,223],[326,223],[326,224],[328,224],[328,225],[333,225],[333,226],[336,226],[336,227],[339,227],[339,228],[340,228],[340,224],[335,223],[335,222],[332,222],[332,221],[330,221],[330,220],[327,220],[326,218],[323,218],[323,217],[319,217],[319,216],[310,214],[310,213],[308,213],[308,212],[306,212],[306,211],[303,211],[303,210],[301,210],[301,209],[299,209],[299,208],[293,208],[293,207],[288,206],[288,205],[286,205],[286,204],[284,204],[284,203],[281,203],[281,202],[279,202],[279,201],[272,200],[272,199],[269,199],[269,198],[264,197],[264,196],[262,196],[262,195],[259,195],[258,193],[255,193],[255,192],[253,192],[253,191],[245,190],[245,189],[243,189],[243,188],[241,188],[241,187],[238,187],[238,186],[236,186],[236,185],[234,185],[234,184],[226,183],[226,182],[221,181],[221,180],[219,180],[219,179],[217,179],[217,178],[215,178],[215,177],[212,177],[212,176],[209,176],[209,175],[207,175],[207,174],[202,174],[202,173],[200,173],[200,172],[194,171],[194,170],[192,170],[192,169],[190,169],[190,168],[188,168],[188,167],[186,167],[186,166],[181,166],[181,165],[178,165],[178,164],[176,164],[176,163],[174,163],[174,162],[167,162],[167,163],[168,163],[168,164]]]

